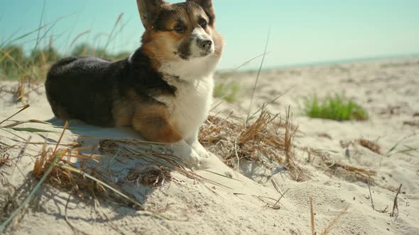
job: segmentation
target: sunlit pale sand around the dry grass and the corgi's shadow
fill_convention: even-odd
[[[232,79],[242,84],[241,96],[237,104],[222,105],[219,109],[234,110],[239,115],[246,113],[250,104],[251,87],[255,74],[236,74]],[[3,88],[14,88],[16,83],[1,82]],[[298,69],[276,69],[263,71],[256,89],[254,108],[271,101],[280,93],[292,88],[278,101],[269,106],[270,110],[285,113],[288,105],[294,110],[295,122],[300,125],[300,132],[295,138],[295,151],[298,162],[306,168],[312,178],[297,183],[288,177],[287,171],[265,172],[266,178],[256,177],[258,183],[244,176],[235,176],[231,180],[221,176],[197,171],[201,176],[212,179],[231,189],[194,182],[180,173],[172,172],[170,183],[160,188],[146,188],[135,183],[121,181],[120,185],[136,195],[144,206],[154,212],[162,212],[171,219],[150,216],[148,212],[132,210],[128,207],[115,206],[111,202],[102,202],[103,214],[92,207],[93,201],[80,201],[71,197],[68,208],[68,221],[87,234],[310,234],[310,205],[308,197],[312,195],[315,210],[316,231],[320,234],[332,220],[349,206],[347,214],[332,227],[331,234],[419,234],[419,159],[395,154],[383,158],[359,144],[349,146],[350,161],[344,158],[345,149],[339,142],[350,142],[365,138],[378,140],[381,151],[386,153],[398,140],[418,133],[419,126],[403,125],[403,122],[419,122],[413,117],[419,112],[419,59],[398,59],[383,62],[363,62],[324,67]],[[369,111],[369,120],[364,122],[335,122],[315,120],[300,115],[299,104],[304,96],[317,93],[344,93],[347,97],[361,104]],[[43,88],[31,93],[28,103],[31,108],[13,117],[13,120],[48,120],[53,117]],[[14,103],[11,93],[0,93],[0,120],[18,110],[21,103]],[[391,112],[391,110],[393,110]],[[7,124],[11,122],[6,122]],[[40,127],[45,125],[25,124],[20,127]],[[47,127],[54,130],[52,127]],[[135,137],[129,130],[111,130],[84,126],[84,134],[98,137]],[[10,132],[10,133],[9,133]],[[43,142],[45,133],[17,132],[0,130],[0,142],[14,144],[18,139],[11,133],[32,142]],[[329,134],[319,137],[319,134]],[[48,133],[51,140],[58,139],[60,133]],[[77,139],[67,132],[64,142]],[[21,139],[19,139],[21,140]],[[419,147],[418,136],[408,139],[408,145]],[[87,144],[87,143],[86,143]],[[371,193],[376,210],[388,207],[388,212],[376,212],[371,208],[368,185],[353,177],[330,175],[319,168],[306,164],[308,154],[302,149],[332,149],[335,161],[352,164],[360,168],[377,172]],[[12,186],[0,188],[0,213],[5,205],[3,197],[13,195],[18,202],[28,195],[29,186],[24,176],[31,178],[34,158],[40,150],[39,145],[29,144],[26,154],[13,162],[16,166],[2,167],[5,178]],[[415,153],[418,155],[418,152]],[[16,157],[18,150],[11,157]],[[379,166],[382,159],[381,167]],[[249,163],[251,164],[251,163]],[[128,166],[127,166],[128,167]],[[131,166],[131,168],[135,165]],[[219,169],[211,169],[219,171]],[[276,180],[281,190],[288,193],[281,199],[281,208],[273,210],[254,196],[278,198],[271,178]],[[390,217],[393,191],[403,183],[402,193],[398,196],[398,217]],[[214,192],[212,192],[214,191]],[[142,195],[145,195],[144,198]],[[65,222],[65,205],[68,193],[43,186],[29,203],[25,213],[19,216],[6,230],[6,234],[73,234]],[[6,214],[1,214],[4,221]],[[113,229],[117,227],[116,229]]]

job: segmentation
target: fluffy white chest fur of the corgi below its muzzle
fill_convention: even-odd
[[[161,68],[168,84],[177,88],[175,97],[156,99],[168,106],[170,123],[183,139],[194,138],[209,115],[214,89],[213,72],[219,58],[214,56],[167,63]],[[195,136],[196,138],[196,136]]]

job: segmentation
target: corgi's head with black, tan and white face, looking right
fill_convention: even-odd
[[[154,63],[220,57],[223,40],[215,30],[212,0],[137,0],[146,28],[143,50]]]

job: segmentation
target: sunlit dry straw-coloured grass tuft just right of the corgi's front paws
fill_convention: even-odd
[[[282,164],[294,180],[308,179],[304,169],[295,164],[293,137],[298,127],[291,122],[290,111],[285,120],[261,110],[255,120],[234,120],[210,116],[201,127],[200,142],[225,164],[238,168],[241,161],[256,161],[268,169]]]

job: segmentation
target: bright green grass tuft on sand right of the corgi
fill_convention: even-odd
[[[303,112],[308,117],[337,121],[368,119],[368,114],[364,108],[353,101],[341,98],[337,93],[322,100],[317,96],[305,98],[303,106]]]

